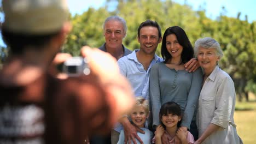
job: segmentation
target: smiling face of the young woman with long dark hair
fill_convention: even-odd
[[[183,46],[181,46],[177,40],[175,34],[167,35],[166,37],[166,49],[170,55],[174,58],[181,58]]]

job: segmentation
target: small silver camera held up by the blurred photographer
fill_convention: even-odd
[[[68,76],[89,75],[90,68],[88,59],[83,57],[71,57],[63,63],[62,71]]]

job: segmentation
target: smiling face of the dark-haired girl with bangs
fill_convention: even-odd
[[[178,122],[181,121],[181,116],[168,113],[167,115],[162,115],[161,121],[165,125],[166,129],[177,128]]]

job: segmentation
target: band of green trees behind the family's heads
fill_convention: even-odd
[[[117,3],[115,7],[114,2]],[[123,44],[130,50],[139,49],[137,28],[147,19],[158,21],[162,34],[170,26],[180,26],[193,45],[202,37],[212,37],[220,43],[224,52],[220,67],[234,80],[239,100],[243,95],[248,100],[249,91],[256,93],[256,22],[240,20],[240,13],[237,18],[227,17],[226,12],[223,7],[218,19],[212,20],[206,16],[203,5],[194,11],[186,3],[181,5],[173,1],[108,0],[104,7],[89,8],[81,15],[71,16],[73,31],[63,51],[79,55],[83,45],[101,46],[104,43],[102,24],[110,15],[119,15],[126,20],[128,29]],[[156,50],[158,55],[160,46]]]

